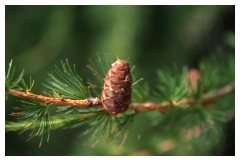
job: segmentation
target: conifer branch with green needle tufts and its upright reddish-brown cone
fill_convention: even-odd
[[[106,64],[105,60],[108,59],[98,56],[96,65],[90,61],[91,65],[88,67],[97,79],[89,79],[87,82],[84,82],[78,75],[75,65],[70,66],[67,59],[61,61],[61,67],[55,66],[56,69],[48,74],[47,83],[44,83],[50,93],[46,96],[31,92],[34,80],[30,77],[28,85],[23,78],[23,72],[15,78],[11,61],[5,78],[5,93],[25,100],[21,100],[21,106],[14,107],[14,111],[10,114],[20,121],[6,122],[6,131],[23,133],[30,130],[29,139],[40,136],[39,146],[41,146],[43,142],[49,141],[52,129],[88,126],[88,129],[82,134],[89,134],[93,141],[98,140],[99,136],[120,140],[123,136],[122,143],[124,143],[128,133],[125,132],[129,128],[133,116],[138,112],[156,111],[153,114],[155,117],[159,113],[181,112],[181,108],[187,108],[188,110],[184,110],[186,115],[191,113],[191,117],[194,117],[194,111],[197,110],[199,118],[209,124],[213,118],[209,117],[207,110],[203,108],[210,107],[209,105],[213,105],[219,98],[234,91],[235,88],[234,82],[228,84],[234,80],[234,73],[232,73],[234,70],[230,65],[229,68],[226,68],[225,61],[223,70],[209,67],[209,64],[212,63],[207,61],[200,66],[199,70],[188,70],[186,67],[179,70],[181,68],[173,66],[173,68],[159,70],[159,82],[155,95],[159,101],[148,102],[151,98],[149,88],[136,85],[139,81],[130,70],[130,66],[126,65],[128,63],[119,59],[110,66],[111,63]],[[109,66],[110,70],[108,70]],[[102,70],[98,73],[96,69]],[[213,74],[221,77],[212,77],[211,69],[214,70]],[[105,75],[105,79],[102,79]],[[223,75],[228,75],[225,77],[226,80],[222,79]],[[105,100],[107,101],[104,104]],[[202,108],[192,108],[196,105],[200,105]],[[48,107],[57,107],[53,116],[50,115]],[[222,117],[222,114],[217,112],[214,114],[214,118]],[[164,115],[167,120],[176,119],[179,122],[180,119],[176,118],[176,115],[168,114]],[[181,115],[181,113],[177,114],[177,116]],[[225,116],[223,115],[223,117]],[[154,120],[154,124],[156,124],[159,118],[154,119],[156,119],[156,121]],[[158,123],[161,121],[164,122],[164,119]],[[197,121],[195,123],[198,125]]]

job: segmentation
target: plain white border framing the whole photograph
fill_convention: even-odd
[[[238,4],[237,4],[238,3]],[[4,115],[4,117],[1,118],[1,131],[0,131],[0,136],[1,136],[1,159],[0,160],[19,160],[19,159],[24,159],[24,160],[42,160],[43,158],[41,157],[5,157],[5,85],[4,85],[4,77],[3,75],[5,74],[5,5],[235,5],[235,79],[236,79],[236,90],[235,90],[235,98],[239,98],[239,72],[237,70],[240,70],[240,63],[239,61],[239,35],[240,35],[240,24],[239,20],[239,13],[240,13],[240,5],[239,5],[238,0],[168,0],[168,1],[157,1],[157,0],[119,0],[119,1],[114,1],[114,0],[88,0],[88,1],[80,1],[80,0],[41,0],[41,1],[34,1],[34,0],[3,0],[0,2],[0,51],[1,51],[1,67],[0,67],[0,75],[1,75],[1,100],[2,100],[2,106],[0,108],[1,114]],[[235,123],[236,123],[236,131],[235,131],[235,157],[134,157],[134,159],[137,159],[138,161],[146,161],[146,159],[151,159],[151,160],[173,160],[173,159],[180,159],[180,160],[199,160],[202,161],[203,159],[206,160],[239,160],[239,154],[240,154],[240,149],[239,149],[239,124],[240,122],[239,117],[239,99],[235,99]],[[238,159],[237,159],[238,158]],[[44,159],[53,159],[50,157],[44,158]],[[57,160],[65,160],[65,157],[54,157],[54,159]],[[86,159],[100,159],[100,160],[112,160],[112,159],[119,159],[119,160],[132,160],[132,157],[84,157],[82,156],[81,158],[79,157],[68,157],[68,159],[71,160],[86,160]]]

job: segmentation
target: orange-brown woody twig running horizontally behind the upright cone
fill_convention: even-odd
[[[129,109],[134,110],[136,112],[139,111],[159,111],[162,113],[168,112],[170,110],[174,109],[174,106],[182,105],[194,105],[197,103],[202,104],[203,106],[207,106],[220,97],[232,92],[235,89],[234,83],[231,83],[229,85],[226,85],[222,88],[217,89],[214,94],[210,97],[202,98],[199,102],[194,100],[193,98],[185,98],[182,99],[179,102],[172,101],[169,102],[161,102],[161,103],[153,103],[153,102],[146,102],[146,103],[132,103]],[[87,98],[83,100],[71,100],[71,99],[64,99],[64,98],[56,98],[56,97],[47,97],[42,95],[33,94],[31,92],[22,92],[15,89],[10,89],[7,91],[7,94],[25,98],[29,100],[35,100],[40,101],[45,104],[56,104],[56,105],[68,105],[72,107],[96,107],[96,106],[102,106],[101,100],[99,98]]]

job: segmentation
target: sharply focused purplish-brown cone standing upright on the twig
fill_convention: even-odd
[[[132,76],[129,64],[118,59],[112,64],[102,89],[103,108],[111,115],[128,109],[131,102]]]

